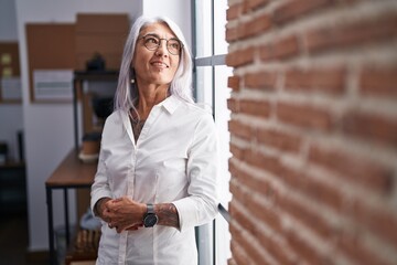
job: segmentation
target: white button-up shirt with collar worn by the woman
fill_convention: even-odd
[[[128,114],[106,120],[92,208],[104,197],[172,202],[180,230],[155,225],[118,234],[104,222],[97,264],[197,264],[194,226],[217,213],[217,136],[211,114],[174,96],[155,105],[135,141]]]

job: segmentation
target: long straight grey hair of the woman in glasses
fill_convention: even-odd
[[[139,94],[137,85],[131,84],[131,78],[135,76],[131,63],[140,31],[152,23],[165,23],[176,35],[176,38],[183,43],[183,50],[180,55],[180,63],[175,72],[175,76],[170,84],[169,93],[184,102],[194,102],[192,96],[192,56],[182,31],[173,21],[168,18],[139,17],[131,26],[130,33],[125,44],[118,85],[115,95],[115,110],[122,109],[126,113],[129,113],[129,110],[132,108],[136,112],[133,105],[138,99]]]

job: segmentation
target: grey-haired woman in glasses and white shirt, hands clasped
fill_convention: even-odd
[[[197,264],[194,226],[217,212],[217,137],[191,96],[181,30],[139,18],[107,118],[92,209],[103,220],[97,264]]]

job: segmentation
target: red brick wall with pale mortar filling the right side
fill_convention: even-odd
[[[397,1],[228,4],[228,264],[397,264]]]

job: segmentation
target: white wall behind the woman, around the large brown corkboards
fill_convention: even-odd
[[[144,4],[143,4],[144,3]],[[73,148],[72,104],[32,104],[28,89],[25,23],[75,22],[78,12],[128,12],[131,19],[144,13],[165,14],[181,25],[191,42],[190,1],[185,0],[17,0],[18,39],[22,72],[23,116],[28,162],[30,251],[49,248],[45,180]],[[73,205],[71,200],[71,205]],[[62,194],[54,195],[55,225],[62,224]],[[71,213],[74,213],[71,206]],[[75,219],[75,216],[72,216]]]

